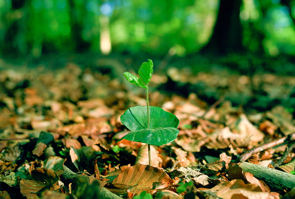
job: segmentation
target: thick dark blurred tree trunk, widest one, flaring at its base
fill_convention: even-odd
[[[241,52],[242,25],[240,22],[240,7],[242,0],[220,0],[217,20],[212,36],[201,53],[224,55],[231,52]]]

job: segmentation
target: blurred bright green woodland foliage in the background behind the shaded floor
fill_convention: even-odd
[[[245,47],[294,55],[294,5],[243,0]],[[218,6],[218,0],[0,0],[0,53],[100,52],[108,20],[112,51],[165,55],[173,47],[185,56],[208,42]]]

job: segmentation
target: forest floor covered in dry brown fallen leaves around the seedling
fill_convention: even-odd
[[[176,67],[153,74],[150,106],[180,123],[175,141],[151,146],[150,167],[146,144],[116,142],[130,132],[124,111],[146,106],[124,68],[8,66],[0,71],[0,198],[295,197],[292,136],[246,160],[289,173],[286,183],[243,172],[239,161],[294,134],[294,76]]]

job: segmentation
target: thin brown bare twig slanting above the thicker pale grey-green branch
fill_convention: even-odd
[[[261,151],[265,151],[267,149],[278,146],[280,144],[287,144],[288,141],[293,141],[294,139],[295,139],[295,132],[291,133],[287,136],[283,136],[279,139],[275,139],[275,140],[268,142],[266,144],[262,144],[258,147],[253,148],[253,149],[250,149],[250,150],[246,151],[245,153],[243,153],[240,157],[238,157],[235,162],[236,163],[244,162],[256,153],[259,153]]]

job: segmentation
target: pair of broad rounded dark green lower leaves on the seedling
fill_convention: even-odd
[[[176,129],[179,120],[175,115],[164,111],[160,107],[149,106],[150,129],[148,129],[147,112],[146,106],[128,108],[121,116],[121,122],[131,132],[117,142],[127,139],[160,146],[176,139],[179,133],[178,129]]]

